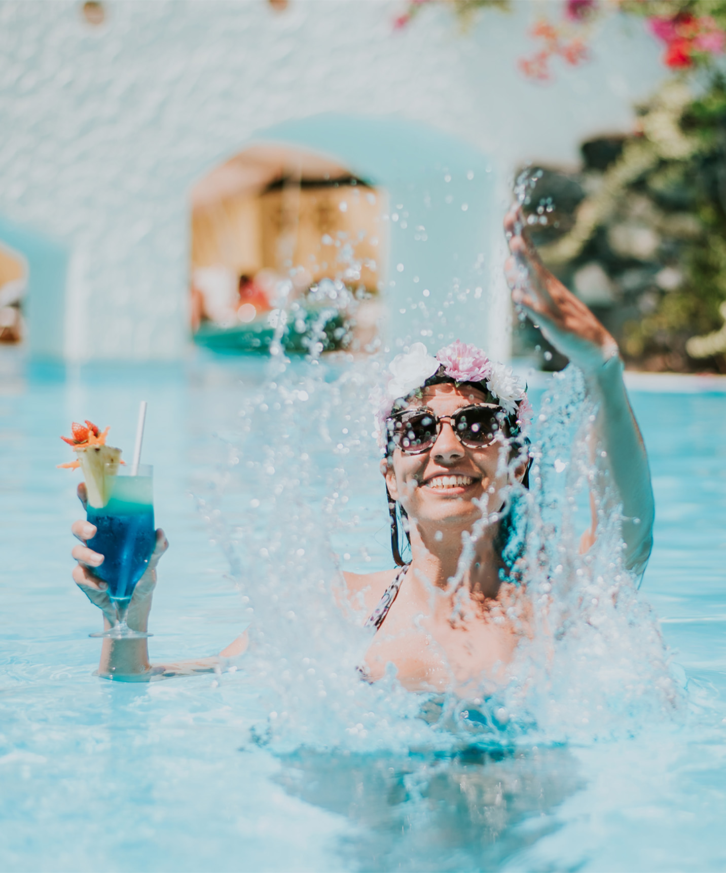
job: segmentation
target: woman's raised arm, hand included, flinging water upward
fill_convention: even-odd
[[[511,257],[505,265],[512,299],[544,336],[585,376],[598,404],[596,433],[622,504],[622,536],[629,569],[642,573],[653,546],[653,489],[645,445],[623,382],[617,343],[587,306],[544,266],[519,206],[504,219]],[[583,546],[592,544],[592,530]]]

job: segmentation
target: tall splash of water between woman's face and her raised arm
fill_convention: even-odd
[[[596,417],[571,366],[544,395],[534,434],[524,557],[531,633],[507,695],[551,740],[629,735],[680,718],[685,702],[657,620],[624,563],[620,506],[597,464]],[[588,493],[597,540],[580,554],[578,498]]]

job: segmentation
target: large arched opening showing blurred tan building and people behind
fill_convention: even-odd
[[[312,341],[325,350],[371,347],[386,259],[385,192],[324,155],[268,143],[214,168],[191,202],[198,343],[264,351],[282,332],[291,351]]]

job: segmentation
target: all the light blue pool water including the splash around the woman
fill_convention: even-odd
[[[361,683],[363,615],[334,605],[340,568],[391,565],[372,366],[295,362],[266,382],[216,363],[145,383],[172,533],[152,655],[209,654],[245,621],[253,642],[234,673],[148,686],[92,677],[95,615],[67,581],[74,484],[51,444],[86,409],[117,429],[127,417],[130,444],[141,388],[3,395],[4,869],[723,869],[723,399],[636,397],[659,512],[643,594],[605,505],[606,536],[572,557],[592,476],[577,376],[535,402],[542,487],[523,499],[538,633],[510,687],[471,705]]]

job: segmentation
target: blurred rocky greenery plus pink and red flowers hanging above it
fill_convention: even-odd
[[[506,8],[414,0],[399,26],[431,3],[467,21],[484,7]],[[537,225],[538,242],[631,361],[726,372],[726,85],[715,64],[726,48],[726,0],[564,0],[557,21],[532,28],[538,49],[520,58],[520,71],[546,81],[553,58],[585,62],[592,31],[614,14],[644,19],[675,76],[640,108],[633,134],[584,144],[581,173],[544,174],[531,206],[551,214]],[[693,71],[697,99],[686,79]]]

